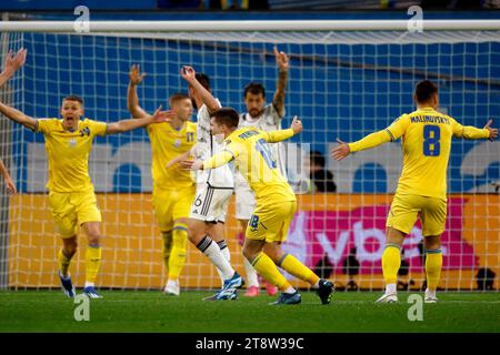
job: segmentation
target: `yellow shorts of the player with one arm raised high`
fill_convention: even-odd
[[[152,204],[161,232],[171,231],[174,221],[189,217],[196,191],[196,185],[178,190],[153,186]]]

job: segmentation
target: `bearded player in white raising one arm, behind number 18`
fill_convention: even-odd
[[[284,89],[288,81],[289,60],[284,52],[278,52],[274,47],[274,57],[278,64],[278,84],[272,102],[266,105],[266,89],[262,84],[251,82],[244,87],[244,104],[247,112],[240,114],[239,126],[257,126],[262,131],[281,130],[281,120],[284,116]],[[284,165],[284,148],[282,143],[269,144],[278,169],[287,179],[287,170]],[[243,176],[236,172],[234,174],[234,193],[236,193],[236,215],[240,224],[240,233],[238,240],[243,241],[243,233],[247,230],[248,222],[257,207],[256,197],[250,190]],[[244,271],[247,273],[247,293],[246,296],[254,297],[260,293],[257,272],[253,266],[243,258]],[[269,295],[274,295],[278,288],[271,284],[267,284],[266,290]]]

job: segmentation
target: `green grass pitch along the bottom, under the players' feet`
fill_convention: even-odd
[[[242,292],[240,292],[242,293]],[[439,304],[423,304],[423,320],[410,322],[410,293],[398,304],[374,304],[374,292],[337,292],[321,305],[313,292],[302,303],[270,306],[274,297],[240,296],[206,302],[210,292],[103,291],[90,300],[90,321],[74,320],[76,305],[59,290],[0,292],[0,332],[133,333],[359,333],[500,331],[500,293],[441,292]],[[419,293],[421,295],[421,293]]]

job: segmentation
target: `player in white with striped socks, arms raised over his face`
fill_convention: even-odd
[[[206,74],[197,74],[191,67],[183,67],[181,75],[189,83],[189,95],[198,109],[197,144],[191,154],[204,160],[222,150],[223,135],[214,136],[210,130],[210,112],[219,110],[221,104],[211,95],[210,81]],[[180,158],[182,155],[176,161],[180,161]],[[224,292],[206,300],[234,300],[236,288],[244,284],[229,263],[230,253],[224,240],[226,214],[233,186],[233,175],[228,165],[197,175],[197,193],[191,206],[188,237],[216,266],[222,281],[221,291],[233,290],[229,297]]]

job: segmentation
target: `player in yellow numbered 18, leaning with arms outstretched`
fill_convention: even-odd
[[[323,304],[330,303],[333,284],[317,276],[293,255],[281,251],[287,231],[297,210],[297,199],[287,180],[277,169],[268,142],[281,142],[302,131],[302,123],[296,116],[288,130],[261,131],[254,126],[238,129],[239,115],[223,108],[212,113],[210,121],[213,134],[223,134],[226,146],[222,152],[201,161],[184,161],[192,170],[208,170],[234,161],[256,193],[257,207],[247,225],[243,255],[268,282],[282,291],[272,304],[298,304],[299,292],[278,271],[278,266],[291,275],[309,282],[317,290]],[[223,290],[233,292],[233,290]]]

